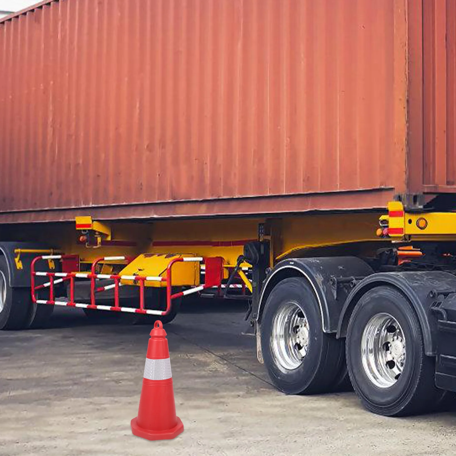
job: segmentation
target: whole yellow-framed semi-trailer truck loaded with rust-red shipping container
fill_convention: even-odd
[[[249,302],[276,387],[456,391],[456,4],[47,0],[0,20],[0,327]]]

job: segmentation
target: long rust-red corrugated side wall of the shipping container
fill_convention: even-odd
[[[54,0],[1,21],[0,222],[382,207],[406,192],[408,3]]]

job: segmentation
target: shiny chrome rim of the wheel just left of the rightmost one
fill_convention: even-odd
[[[271,348],[276,365],[283,372],[301,366],[309,350],[309,323],[297,302],[289,301],[277,310],[271,333]]]

